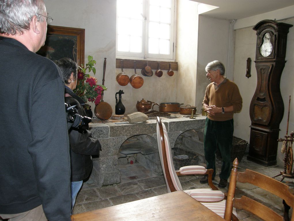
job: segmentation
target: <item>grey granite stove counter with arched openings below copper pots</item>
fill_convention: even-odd
[[[171,148],[175,146],[177,138],[189,130],[201,131],[205,125],[205,118],[203,116],[197,116],[195,119],[187,117],[181,118],[164,118],[161,117],[162,123],[165,124]],[[156,136],[156,120],[148,120],[142,123],[91,123],[90,131],[93,137],[99,139],[102,151],[100,151],[99,158],[93,158],[93,170],[91,173],[91,179],[95,180],[98,186],[104,186],[109,184],[116,184],[121,182],[121,174],[118,170],[119,149],[122,144],[128,139],[136,135],[148,135],[154,145],[154,149],[157,147]],[[185,140],[185,138],[184,138]],[[197,150],[195,150],[197,151]],[[142,154],[141,154],[142,155]],[[156,155],[156,157],[152,156]],[[140,154],[138,154],[140,156]],[[149,156],[149,155],[146,155]],[[155,160],[160,168],[160,160],[158,152],[152,153],[149,156],[150,159]],[[142,161],[142,159],[141,159]],[[152,164],[152,161],[145,159],[146,164]],[[158,168],[158,166],[156,166]],[[159,173],[160,171],[156,171]],[[162,171],[161,171],[162,173]]]

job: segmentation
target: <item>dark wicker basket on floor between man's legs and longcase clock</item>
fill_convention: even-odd
[[[231,162],[233,162],[236,157],[238,158],[239,162],[242,160],[245,154],[247,145],[248,145],[247,141],[233,136],[232,149],[231,149]],[[216,158],[219,160],[222,159],[220,155],[220,150],[218,149],[218,147],[216,149]]]

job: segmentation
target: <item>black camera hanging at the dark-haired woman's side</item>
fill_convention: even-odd
[[[67,127],[71,127],[86,130],[89,127],[89,123],[92,121],[91,118],[81,116],[78,114],[76,104],[65,104]]]

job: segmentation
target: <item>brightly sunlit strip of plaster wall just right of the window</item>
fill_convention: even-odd
[[[179,78],[176,90],[178,100],[191,106],[195,105],[196,93],[197,5],[198,3],[194,1],[178,0],[176,60]],[[199,111],[200,109],[197,108]]]

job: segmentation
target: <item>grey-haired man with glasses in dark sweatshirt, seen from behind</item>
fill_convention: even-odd
[[[35,54],[52,19],[43,0],[0,0],[0,19],[0,217],[69,221],[64,84]]]

